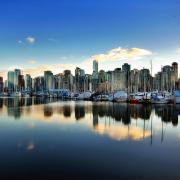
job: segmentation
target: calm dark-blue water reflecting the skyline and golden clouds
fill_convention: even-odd
[[[0,179],[180,179],[180,105],[0,99]]]

